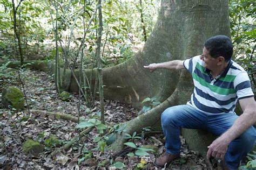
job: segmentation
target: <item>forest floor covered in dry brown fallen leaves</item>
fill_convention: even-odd
[[[0,93],[4,88],[16,86],[22,89],[21,81],[18,78],[18,71],[10,69],[10,76],[1,80]],[[61,112],[78,117],[79,97],[78,94],[71,94],[68,101],[62,101],[55,90],[55,84],[51,75],[36,70],[25,69],[21,72],[21,79],[24,84],[27,108]],[[2,98],[0,96],[0,98]],[[0,101],[2,103],[2,101]],[[138,116],[138,110],[131,105],[118,101],[105,100],[105,122],[109,127],[129,121]],[[99,102],[96,106],[86,108],[84,101],[81,101],[80,115],[83,118],[99,118]],[[153,162],[164,153],[164,135],[158,133],[154,136],[136,134],[133,142],[137,146],[151,145],[157,148],[156,153],[139,157],[129,157],[127,154],[120,154],[113,157],[111,149],[104,147],[101,152],[98,146],[99,133],[93,129],[80,140],[76,141],[66,152],[58,152],[51,157],[56,148],[64,145],[69,140],[79,135],[75,128],[77,123],[64,121],[46,114],[25,114],[23,111],[5,109],[0,105],[0,169],[116,169],[114,162],[122,162],[123,169],[157,169]],[[115,126],[117,128],[117,126]],[[49,141],[54,135],[58,142]],[[104,137],[100,137],[104,139]],[[44,152],[33,155],[23,152],[23,144],[27,139],[38,141],[44,146]],[[207,169],[205,160],[196,152],[188,150],[185,139],[181,137],[181,157],[166,169]],[[130,152],[134,152],[130,150]],[[123,164],[116,164],[122,167]]]

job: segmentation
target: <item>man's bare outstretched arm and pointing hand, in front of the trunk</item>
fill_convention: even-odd
[[[144,66],[144,68],[150,69],[151,72],[153,72],[157,68],[166,68],[166,69],[183,69],[185,68],[183,65],[183,60],[173,60],[173,61],[167,61],[167,62],[161,62],[161,63],[151,63],[149,66]]]

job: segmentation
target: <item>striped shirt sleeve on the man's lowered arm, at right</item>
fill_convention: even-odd
[[[251,82],[246,72],[241,72],[235,77],[234,89],[237,92],[238,99],[254,96]]]

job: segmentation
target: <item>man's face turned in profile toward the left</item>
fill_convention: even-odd
[[[209,54],[208,50],[205,47],[203,49],[203,54],[200,56],[200,59],[205,62],[205,68],[213,70],[217,67],[217,59],[212,58],[212,56]]]

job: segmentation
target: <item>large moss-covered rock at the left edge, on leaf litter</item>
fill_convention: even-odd
[[[24,109],[24,96],[20,89],[16,87],[8,87],[2,93],[2,102],[5,108],[9,105],[17,110]]]

